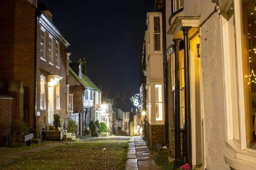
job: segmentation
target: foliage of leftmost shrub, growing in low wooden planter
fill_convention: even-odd
[[[29,134],[29,127],[27,122],[16,120],[12,123],[13,135],[27,135]]]

